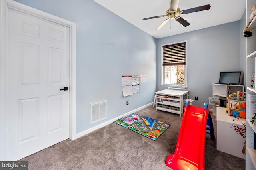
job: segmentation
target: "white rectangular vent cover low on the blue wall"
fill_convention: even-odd
[[[91,103],[90,105],[91,105],[90,124],[106,119],[106,101]]]

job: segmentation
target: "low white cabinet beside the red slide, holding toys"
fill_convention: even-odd
[[[216,107],[216,149],[245,159],[242,153],[245,138],[230,128],[236,125],[244,128],[240,121],[233,121],[235,117],[226,113],[225,107]],[[245,123],[245,119],[242,120]]]

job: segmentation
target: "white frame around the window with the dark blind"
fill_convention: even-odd
[[[169,85],[169,84],[164,84],[164,76],[165,76],[165,70],[163,66],[163,46],[164,45],[172,45],[176,43],[186,43],[186,65],[184,67],[184,85]],[[161,86],[163,87],[172,87],[172,88],[182,88],[182,89],[187,89],[188,88],[188,40],[180,41],[180,42],[174,42],[174,43],[167,43],[167,44],[162,44],[161,45]]]

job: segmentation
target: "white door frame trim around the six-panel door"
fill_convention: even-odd
[[[76,138],[76,23],[37,10],[13,0],[0,0],[0,160],[6,160],[7,142],[7,57],[8,57],[8,10],[13,9],[25,12],[69,28],[70,35],[70,135],[71,140]]]

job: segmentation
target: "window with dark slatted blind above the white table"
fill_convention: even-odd
[[[187,41],[162,45],[162,85],[187,88]]]

